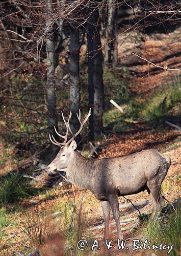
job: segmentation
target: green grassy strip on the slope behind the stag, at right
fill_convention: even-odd
[[[121,94],[119,95],[121,100]],[[126,97],[125,97],[126,98]],[[124,103],[124,95],[121,103]],[[134,126],[135,122],[145,122],[150,126],[158,127],[166,120],[179,124],[181,118],[181,80],[177,78],[170,86],[157,89],[144,98],[131,96],[126,98],[123,106],[124,113],[112,107],[104,113],[105,130],[124,132]]]

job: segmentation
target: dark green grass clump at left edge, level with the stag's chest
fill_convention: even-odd
[[[0,202],[13,203],[35,194],[35,188],[19,173],[9,173],[0,183]]]

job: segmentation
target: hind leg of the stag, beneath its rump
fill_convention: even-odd
[[[156,179],[147,182],[147,191],[153,203],[153,210],[149,221],[156,220],[161,212],[162,207],[165,205],[161,195],[161,183]],[[150,192],[150,193],[149,193]]]

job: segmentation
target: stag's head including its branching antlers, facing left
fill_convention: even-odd
[[[81,111],[80,110],[79,110],[79,115],[76,114],[77,118],[80,122],[80,129],[75,134],[71,131],[70,124],[69,124],[72,113],[70,112],[69,117],[68,117],[68,121],[65,120],[63,112],[61,112],[61,113],[62,113],[63,121],[66,125],[66,134],[65,135],[59,134],[57,132],[55,126],[54,126],[55,132],[57,133],[58,136],[60,136],[61,138],[64,139],[64,142],[56,141],[54,136],[49,134],[50,141],[53,144],[57,145],[57,146],[61,146],[61,149],[60,149],[59,153],[57,154],[56,158],[47,166],[47,169],[48,169],[49,172],[51,172],[55,169],[60,170],[60,169],[67,168],[67,165],[68,165],[70,159],[72,159],[72,157],[73,157],[74,150],[76,150],[76,147],[77,147],[74,138],[81,133],[85,122],[87,121],[87,119],[91,115],[91,109],[89,110],[89,113],[85,117],[84,121],[81,121]],[[72,137],[68,140],[69,132],[70,132]],[[52,136],[53,139],[51,138],[51,136]]]

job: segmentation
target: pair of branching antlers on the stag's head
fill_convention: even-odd
[[[68,117],[68,121],[65,120],[64,115],[63,115],[63,112],[61,112],[61,113],[62,113],[62,118],[63,118],[63,121],[64,121],[64,123],[65,123],[65,125],[66,125],[66,129],[67,129],[67,130],[66,130],[66,134],[65,134],[65,135],[59,134],[59,133],[57,132],[55,126],[54,126],[54,129],[55,129],[56,134],[59,135],[61,138],[64,139],[64,142],[58,142],[58,141],[56,141],[56,139],[54,138],[54,136],[53,136],[53,135],[50,135],[50,134],[49,134],[49,139],[50,139],[50,141],[51,141],[54,145],[57,145],[57,146],[60,146],[60,145],[62,145],[62,146],[67,146],[67,145],[70,144],[70,142],[71,142],[77,135],[79,135],[79,134],[81,133],[85,122],[87,121],[87,119],[88,119],[88,118],[90,117],[90,115],[91,115],[91,108],[89,109],[89,113],[87,114],[87,116],[85,117],[85,119],[84,119],[83,122],[81,121],[81,111],[79,110],[79,115],[76,113],[76,116],[77,116],[77,118],[78,118],[78,120],[79,120],[81,126],[80,126],[80,129],[79,129],[75,134],[72,133],[72,131],[71,131],[71,129],[70,129],[70,125],[69,125],[69,122],[70,122],[70,118],[71,118],[71,116],[72,116],[72,113],[70,112],[69,117]],[[69,133],[69,132],[71,133],[72,138],[67,141],[67,139],[68,139],[68,133]],[[53,139],[51,139],[51,136],[52,136],[52,138],[54,139],[54,141],[53,141]]]

